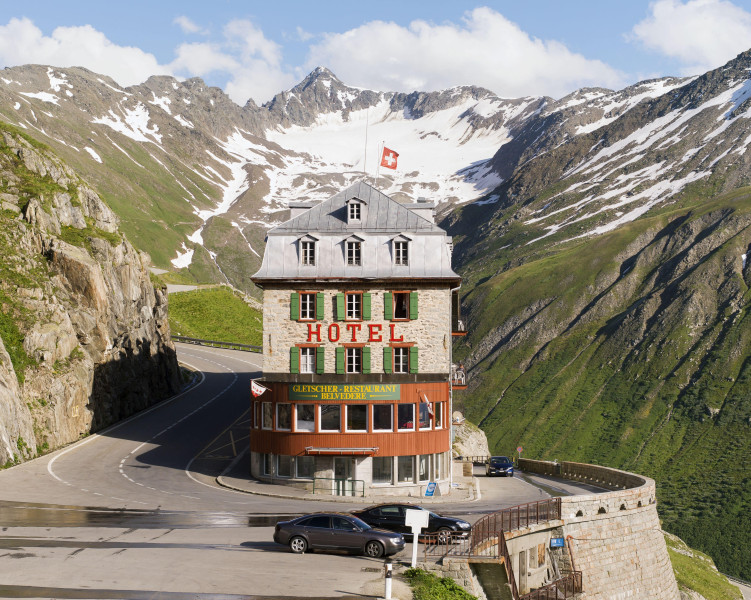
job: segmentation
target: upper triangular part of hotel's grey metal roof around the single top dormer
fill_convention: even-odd
[[[363,220],[358,224],[347,222],[347,202],[358,198],[366,203]],[[328,200],[313,206],[303,214],[269,230],[269,235],[307,233],[344,233],[351,231],[440,233],[445,231],[424,219],[396,200],[378,191],[364,181],[353,183]]]

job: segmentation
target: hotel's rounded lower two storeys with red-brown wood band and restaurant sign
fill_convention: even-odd
[[[264,381],[251,402],[251,474],[322,493],[449,491],[448,381]]]

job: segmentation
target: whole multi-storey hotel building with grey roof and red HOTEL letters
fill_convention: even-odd
[[[448,493],[461,280],[435,205],[359,182],[290,209],[253,276],[269,391],[252,398],[251,474],[328,494]]]

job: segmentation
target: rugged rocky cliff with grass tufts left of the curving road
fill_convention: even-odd
[[[166,293],[147,266],[76,173],[0,125],[0,465],[179,388]]]

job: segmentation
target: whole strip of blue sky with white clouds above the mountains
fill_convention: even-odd
[[[81,65],[122,85],[199,76],[239,104],[317,65],[377,90],[559,98],[699,74],[749,48],[751,0],[0,0],[0,66]]]

